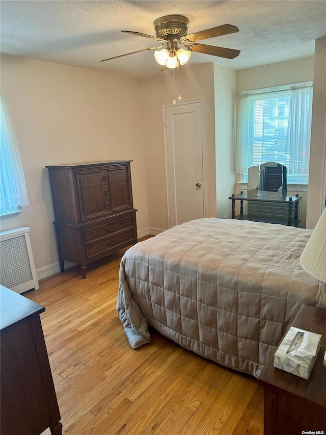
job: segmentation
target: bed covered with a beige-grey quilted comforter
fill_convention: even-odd
[[[134,245],[121,260],[117,300],[129,344],[150,343],[150,325],[258,376],[302,304],[326,308],[326,285],[299,262],[311,233],[205,218]]]

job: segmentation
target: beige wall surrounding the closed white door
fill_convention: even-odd
[[[175,71],[176,97],[178,96]],[[162,107],[173,101],[172,70],[141,81],[141,113],[145,152],[149,226],[152,232],[167,229],[168,204]],[[213,64],[180,70],[182,101],[204,99],[205,216],[216,216],[215,120]],[[186,156],[185,156],[186,159]]]

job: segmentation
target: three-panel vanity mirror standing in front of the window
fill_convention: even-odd
[[[248,195],[285,196],[287,168],[276,162],[266,162],[248,169]]]

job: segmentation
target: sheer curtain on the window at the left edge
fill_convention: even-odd
[[[18,210],[19,206],[27,206],[29,198],[16,137],[2,92],[0,140],[0,214],[5,214]]]

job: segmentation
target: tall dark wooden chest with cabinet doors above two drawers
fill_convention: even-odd
[[[130,162],[46,166],[49,170],[60,270],[64,260],[87,265],[137,243]]]

